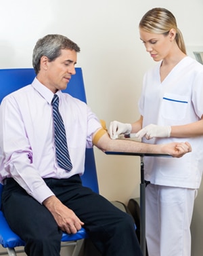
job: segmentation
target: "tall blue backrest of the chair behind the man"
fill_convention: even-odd
[[[34,78],[34,69],[0,69],[0,103],[7,94],[18,90],[23,86],[31,84]],[[68,83],[68,86],[64,92],[69,93],[70,95],[84,101],[85,103],[87,102],[81,68],[76,68],[76,75],[71,77],[70,82]],[[93,191],[99,193],[93,148],[86,149],[85,173],[81,178],[83,185],[91,187]],[[2,185],[0,184],[0,208],[1,190]]]

